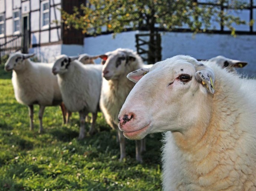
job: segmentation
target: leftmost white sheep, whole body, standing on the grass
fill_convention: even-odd
[[[29,107],[30,130],[34,129],[33,105],[39,105],[39,133],[43,132],[43,112],[46,106],[60,105],[65,123],[65,106],[62,104],[57,77],[52,74],[53,64],[30,61],[34,54],[15,52],[8,58],[4,68],[13,71],[12,83],[16,100]]]

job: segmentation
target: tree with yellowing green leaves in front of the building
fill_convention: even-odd
[[[245,24],[228,9],[247,5],[238,0],[90,0],[90,4],[75,7],[72,14],[62,11],[66,27],[82,29],[96,35],[103,30],[120,33],[127,29],[144,29],[154,34],[157,29],[172,31],[186,27],[194,33],[206,32],[211,23],[226,26],[235,35],[233,23]],[[150,42],[154,36],[150,35]],[[154,50],[149,50],[153,52]],[[155,61],[152,61],[155,62]]]

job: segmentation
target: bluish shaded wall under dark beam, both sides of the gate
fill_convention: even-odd
[[[131,31],[112,35],[88,37],[84,40],[84,53],[96,55],[116,48],[135,48],[135,34]],[[162,33],[162,60],[177,54],[191,55],[197,59],[209,59],[223,55],[232,59],[247,61],[244,74],[256,76],[256,35],[237,35],[236,38],[224,34]]]

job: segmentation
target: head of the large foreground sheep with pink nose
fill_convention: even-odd
[[[185,132],[210,120],[214,72],[184,55],[128,74],[137,82],[119,113],[119,129],[128,139],[148,133]]]

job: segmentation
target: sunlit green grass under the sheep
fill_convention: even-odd
[[[0,190],[161,190],[161,134],[146,137],[144,163],[139,164],[131,140],[127,158],[119,162],[116,132],[102,113],[98,132],[77,140],[78,113],[62,125],[61,110],[47,107],[45,133],[38,134],[35,106],[35,129],[30,131],[28,109],[14,98],[11,73],[0,66]]]

